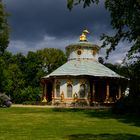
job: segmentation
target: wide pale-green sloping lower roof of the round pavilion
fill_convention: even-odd
[[[99,62],[93,60],[71,60],[63,64],[61,67],[53,71],[51,74],[43,77],[49,78],[53,76],[94,76],[94,77],[114,77],[124,78],[115,73],[111,69],[105,67]]]

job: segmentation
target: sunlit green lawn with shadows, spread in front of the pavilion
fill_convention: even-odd
[[[105,110],[0,108],[0,140],[140,140],[139,120]]]

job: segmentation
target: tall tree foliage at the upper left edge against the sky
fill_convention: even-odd
[[[7,13],[2,1],[0,1],[0,55],[4,53],[9,44],[9,25],[7,23]]]

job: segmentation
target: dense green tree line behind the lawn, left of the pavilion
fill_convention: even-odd
[[[5,51],[0,56],[0,92],[14,103],[40,101],[40,79],[66,62],[60,49],[45,48],[36,52],[13,55]]]

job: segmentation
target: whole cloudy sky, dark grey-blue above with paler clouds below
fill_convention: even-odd
[[[109,13],[103,0],[99,5],[83,9],[81,5],[69,11],[66,0],[4,0],[11,27],[8,50],[27,54],[42,48],[59,48],[78,42],[83,29],[90,31],[88,40],[101,45],[102,33],[113,34]],[[128,50],[121,42],[111,53],[109,62],[120,62]],[[100,51],[105,56],[105,50]]]

